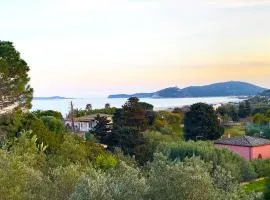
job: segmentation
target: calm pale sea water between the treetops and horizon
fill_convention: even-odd
[[[108,98],[87,98],[87,99],[61,99],[61,100],[33,100],[32,110],[56,110],[66,116],[70,110],[70,102],[72,101],[75,108],[84,109],[86,104],[92,104],[93,109],[104,108],[106,103],[111,106],[120,108],[127,99],[108,99]],[[236,97],[203,97],[203,98],[168,98],[168,99],[150,99],[141,98],[140,101],[154,105],[155,109],[174,108],[185,105],[191,105],[198,102],[216,104],[239,102],[241,99]]]

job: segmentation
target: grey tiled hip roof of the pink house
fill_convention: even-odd
[[[268,144],[270,145],[270,140],[244,135],[244,136],[233,137],[233,138],[219,139],[219,140],[214,141],[214,144],[256,147],[256,146],[263,146],[263,145],[268,145]]]

